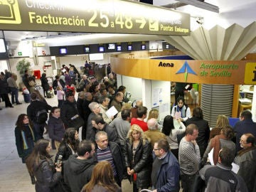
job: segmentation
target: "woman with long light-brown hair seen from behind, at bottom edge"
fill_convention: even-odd
[[[81,192],[120,192],[122,189],[114,181],[112,166],[109,161],[101,161],[95,165],[92,178]]]

